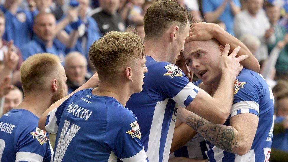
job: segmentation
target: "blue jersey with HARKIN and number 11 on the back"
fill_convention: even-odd
[[[116,99],[76,92],[48,114],[54,161],[146,161],[136,116]]]

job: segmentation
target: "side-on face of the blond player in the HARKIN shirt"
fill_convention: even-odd
[[[134,77],[133,79],[133,87],[135,87],[135,93],[141,92],[143,90],[143,79],[144,79],[144,73],[147,73],[147,67],[145,66],[146,63],[146,58],[142,59],[137,59],[136,65],[135,65],[135,70],[134,71]]]

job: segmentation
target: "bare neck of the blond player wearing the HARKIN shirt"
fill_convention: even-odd
[[[109,86],[99,82],[98,87],[92,90],[92,94],[97,96],[108,96],[116,99],[123,107],[126,106],[126,102],[130,98],[131,94],[125,87]]]

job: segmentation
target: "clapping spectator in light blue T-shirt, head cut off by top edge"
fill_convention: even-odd
[[[234,36],[233,22],[241,10],[239,0],[202,0],[202,12],[206,22],[214,23],[218,19],[225,23],[226,30]]]

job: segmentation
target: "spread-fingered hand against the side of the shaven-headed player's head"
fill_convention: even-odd
[[[238,76],[240,71],[243,69],[243,66],[240,64],[241,61],[248,58],[248,55],[241,55],[238,58],[236,58],[237,53],[241,49],[240,46],[235,48],[232,53],[228,56],[230,45],[225,45],[224,51],[221,56],[220,60],[220,69],[222,72],[224,71],[230,71],[231,73],[234,73],[235,76]]]

